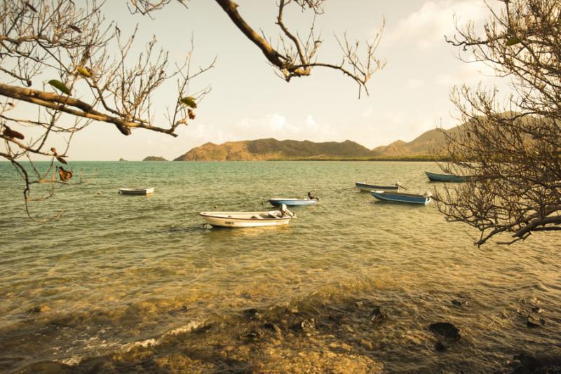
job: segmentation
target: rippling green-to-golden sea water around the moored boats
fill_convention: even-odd
[[[428,162],[74,162],[32,205],[0,163],[0,370],[499,370],[558,352],[560,237],[473,246],[436,207],[374,202],[354,181],[422,193]],[[119,187],[154,186],[150,197]],[[320,204],[273,228],[205,228],[198,212]],[[503,238],[504,239],[504,238]],[[452,300],[459,300],[455,305]],[[45,305],[43,313],[26,313]],[[372,318],[376,307],[385,319]],[[528,328],[532,307],[546,324]],[[428,330],[462,338],[436,352]],[[304,327],[302,327],[304,326]],[[58,366],[57,366],[58,365]]]

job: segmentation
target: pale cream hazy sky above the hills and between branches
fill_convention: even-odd
[[[238,11],[254,29],[276,40],[280,32],[274,24],[276,1],[237,2]],[[142,160],[148,155],[173,159],[208,141],[221,144],[269,137],[349,139],[374,148],[398,139],[411,141],[435,127],[459,125],[448,97],[453,85],[500,84],[489,67],[459,60],[458,49],[444,39],[454,35],[456,21],[481,24],[489,16],[482,0],[326,1],[325,14],[316,20],[324,40],[318,60],[341,60],[335,34],[346,32],[349,39],[364,41],[386,22],[376,53],[386,67],[372,76],[370,95],[360,99],[356,83],[331,69],[317,68],[309,77],[283,81],[215,1],[187,4],[187,9],[171,4],[150,19],[130,15],[122,1],[111,0],[105,14],[124,33],[139,25],[137,51],[154,35],[171,59],[179,61],[189,51],[192,36],[193,67],[203,67],[217,57],[213,69],[191,82],[194,91],[212,88],[200,103],[196,120],[180,127],[177,138],[142,129],[125,137],[114,125],[93,123],[74,137],[70,160]],[[307,33],[309,21],[308,13],[285,15],[288,27],[302,34]],[[173,106],[176,99],[172,86],[157,92],[156,124],[165,106]]]

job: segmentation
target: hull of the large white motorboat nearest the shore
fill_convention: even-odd
[[[201,216],[211,226],[228,228],[288,225],[292,218],[273,217],[270,212],[201,212]],[[253,216],[259,218],[251,218]]]

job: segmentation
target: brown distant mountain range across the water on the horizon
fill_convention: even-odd
[[[443,130],[461,132],[463,125]],[[429,130],[410,142],[394,141],[387,146],[368,149],[346,140],[341,143],[313,141],[257,139],[228,141],[223,144],[206,143],[192,148],[174,161],[250,161],[250,160],[324,160],[324,159],[384,159],[434,158],[445,145],[442,130]]]

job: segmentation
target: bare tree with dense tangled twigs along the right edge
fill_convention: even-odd
[[[447,133],[442,169],[469,177],[436,198],[448,221],[480,230],[481,245],[501,233],[511,244],[539,231],[561,229],[561,3],[502,0],[489,8],[485,33],[459,28],[453,46],[508,76],[514,90],[454,88],[451,99],[466,121]]]

